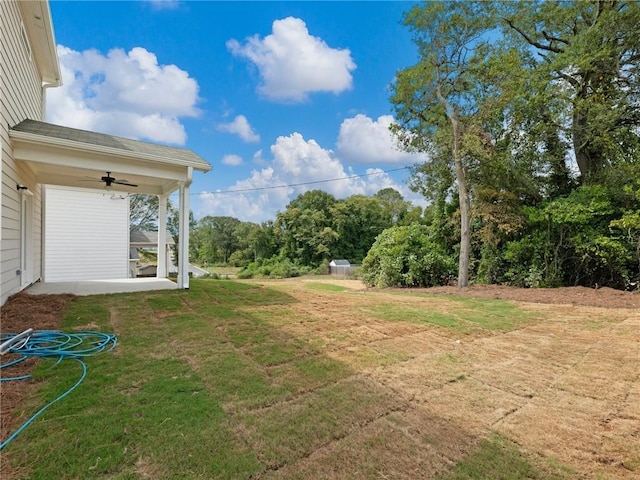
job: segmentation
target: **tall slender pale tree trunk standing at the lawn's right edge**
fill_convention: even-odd
[[[460,258],[458,260],[458,288],[469,286],[469,246],[471,243],[471,208],[469,192],[467,191],[467,177],[460,154],[460,119],[458,111],[454,109],[451,115],[453,127],[453,161],[456,166],[456,182],[458,183],[458,198],[460,199]]]

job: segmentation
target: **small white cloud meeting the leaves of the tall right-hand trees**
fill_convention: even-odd
[[[402,151],[396,144],[389,127],[391,115],[372,120],[358,114],[347,118],[340,125],[336,146],[340,158],[353,163],[409,164],[425,160],[424,155]]]

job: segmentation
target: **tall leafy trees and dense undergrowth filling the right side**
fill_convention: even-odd
[[[640,4],[427,2],[404,21],[419,60],[392,131],[429,155],[410,187],[458,285],[636,288]]]

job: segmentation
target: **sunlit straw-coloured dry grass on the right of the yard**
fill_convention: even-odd
[[[276,288],[288,289],[289,284],[281,282]],[[569,478],[637,478],[640,316],[636,311],[512,302],[512,314],[506,310],[492,318],[490,310],[482,313],[482,303],[460,305],[451,296],[366,291],[355,284],[350,291],[333,295],[310,294],[301,283],[290,288],[287,291],[299,300],[290,308],[305,321],[281,327],[298,338],[322,338],[321,351],[366,372],[412,410],[427,411],[429,418],[442,419],[476,440],[492,432],[504,435],[547,471],[541,478],[555,475],[549,472],[558,469],[550,464],[564,464],[559,475],[564,472]],[[580,303],[589,303],[584,297],[588,292],[579,293]],[[391,304],[393,309],[380,310],[380,305]],[[470,308],[480,313],[471,314]],[[447,312],[465,328],[457,328],[444,316],[432,323],[420,320],[421,315]],[[497,330],[492,329],[492,320],[498,322]],[[371,335],[365,327],[383,337]],[[395,441],[404,444],[406,439]],[[340,455],[347,455],[348,438],[340,443]],[[359,452],[360,447],[354,450]],[[338,450],[329,451],[327,455],[334,457]],[[324,458],[318,452],[299,468],[287,467],[283,478],[314,472],[319,478],[382,478],[381,472],[390,471],[394,478],[412,478],[408,468],[399,473],[391,464],[385,470],[376,462],[369,470],[347,469],[349,473],[341,477],[331,470],[334,467],[323,469],[320,460],[312,461],[316,455]],[[440,455],[459,459],[454,451]],[[362,466],[362,461],[355,463]]]

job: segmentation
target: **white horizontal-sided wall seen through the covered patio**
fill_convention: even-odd
[[[128,277],[128,198],[51,185],[44,198],[45,282]]]

